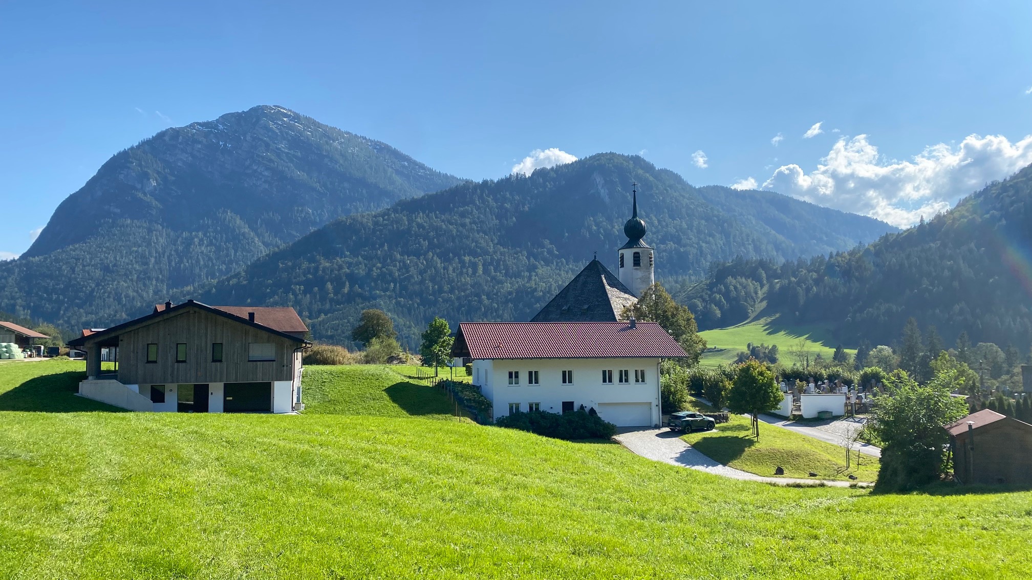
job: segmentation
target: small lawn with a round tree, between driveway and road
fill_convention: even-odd
[[[710,411],[696,401],[699,411]],[[847,480],[854,475],[859,481],[874,481],[878,477],[878,460],[863,455],[857,466],[857,453],[850,457],[849,470],[845,468],[845,449],[817,441],[813,438],[760,423],[760,441],[752,436],[749,419],[732,415],[731,421],[716,426],[716,430],[697,431],[681,437],[703,454],[737,470],[761,476],[774,476],[774,470],[784,468],[784,477]]]

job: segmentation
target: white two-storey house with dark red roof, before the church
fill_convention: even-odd
[[[473,384],[493,417],[594,409],[617,426],[658,426],[659,362],[686,356],[654,322],[462,322],[452,356],[473,358]]]

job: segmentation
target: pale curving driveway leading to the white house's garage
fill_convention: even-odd
[[[692,449],[690,445],[684,443],[678,436],[680,436],[679,431],[671,431],[667,427],[663,427],[659,429],[625,430],[617,434],[614,439],[642,457],[733,479],[761,481],[775,485],[817,485],[824,483],[825,485],[835,487],[848,487],[851,484],[848,481],[757,476],[717,463],[702,452]],[[857,483],[857,485],[867,487],[870,484]]]

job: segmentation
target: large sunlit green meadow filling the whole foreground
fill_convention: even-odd
[[[98,412],[72,394],[83,368],[0,366],[0,578],[1019,578],[1032,566],[1032,492],[781,488],[420,417]]]

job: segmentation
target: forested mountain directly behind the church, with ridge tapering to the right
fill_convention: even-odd
[[[715,204],[640,157],[600,154],[343,218],[183,297],[292,305],[313,321],[316,337],[342,343],[359,312],[374,305],[395,319],[410,345],[433,316],[527,320],[593,252],[616,270],[635,182],[659,281],[701,277],[710,262],[736,255],[795,259],[842,250],[893,229],[789,198],[784,213],[779,199],[756,212],[762,218],[744,208],[732,214],[730,206],[757,192],[716,188],[722,199]],[[830,227],[785,235],[764,220]]]

